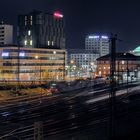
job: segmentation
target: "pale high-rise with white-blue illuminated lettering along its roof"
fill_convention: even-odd
[[[104,56],[109,53],[109,38],[104,35],[88,35],[85,39],[85,49],[92,50],[98,53],[100,56]]]

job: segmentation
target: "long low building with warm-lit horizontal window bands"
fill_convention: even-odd
[[[0,47],[0,80],[64,80],[65,55],[58,49]]]

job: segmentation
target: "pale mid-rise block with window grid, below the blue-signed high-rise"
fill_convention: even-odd
[[[85,77],[90,77],[91,71],[95,72],[96,59],[99,58],[99,54],[85,49],[71,49],[67,54],[67,69],[71,67],[72,70],[76,70],[76,73],[82,73],[81,75]]]

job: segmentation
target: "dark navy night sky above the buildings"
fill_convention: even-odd
[[[17,15],[32,10],[59,10],[66,20],[66,48],[84,48],[88,34],[118,35],[120,51],[140,44],[140,2],[137,0],[1,0],[0,20],[14,25]],[[15,34],[15,33],[14,33]]]

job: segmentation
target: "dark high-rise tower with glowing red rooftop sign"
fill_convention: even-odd
[[[18,45],[28,48],[65,48],[65,23],[60,12],[33,11],[18,16]]]

